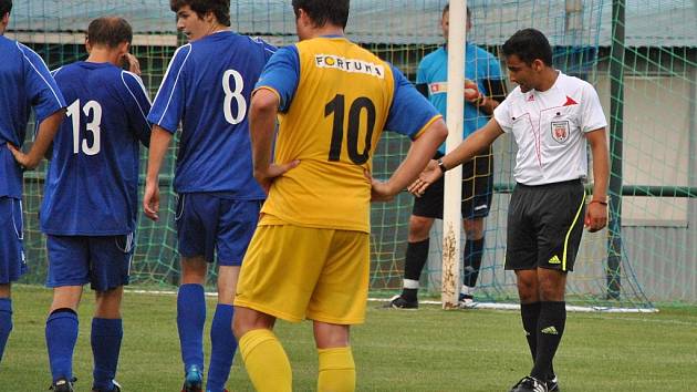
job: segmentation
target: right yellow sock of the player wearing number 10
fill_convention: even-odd
[[[356,389],[356,365],[350,347],[319,349],[319,392],[353,392]]]

